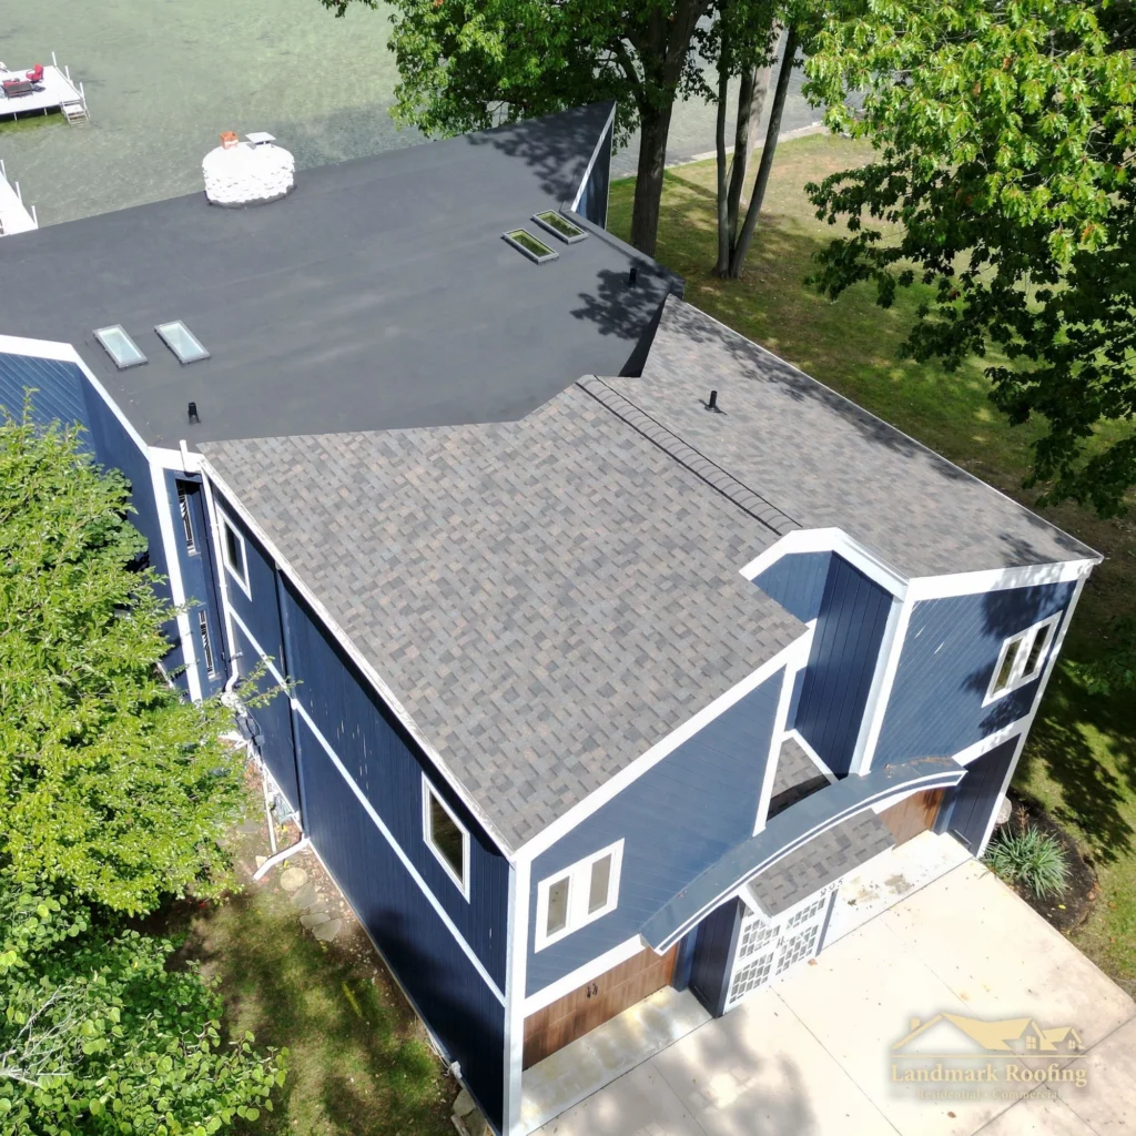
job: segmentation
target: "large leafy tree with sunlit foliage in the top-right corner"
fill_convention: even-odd
[[[1134,48],[1128,0],[836,0],[805,65],[828,124],[876,149],[809,186],[851,234],[817,282],[884,307],[922,286],[918,360],[1004,352],[991,398],[1046,427],[1027,485],[1105,516],[1136,483]]]

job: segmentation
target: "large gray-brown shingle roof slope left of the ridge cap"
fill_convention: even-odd
[[[797,637],[776,534],[580,386],[519,423],[209,462],[519,846]]]

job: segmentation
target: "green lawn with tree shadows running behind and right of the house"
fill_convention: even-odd
[[[870,153],[863,143],[815,135],[783,143],[750,253],[746,278],[720,281],[715,260],[715,164],[667,173],[657,256],[686,278],[686,299],[854,399],[1011,496],[1021,490],[1034,426],[1010,427],[987,401],[972,360],[947,374],[897,358],[919,303],[900,294],[884,310],[859,286],[830,302],[804,285],[812,256],[838,233],[818,222],[804,195],[809,181],[846,169]],[[634,182],[611,187],[610,227],[627,237]],[[1075,941],[1136,993],[1136,698],[1088,695],[1068,662],[1088,658],[1113,613],[1136,611],[1136,526],[1102,521],[1074,506],[1044,512],[1100,550],[1066,641],[1062,665],[1017,776],[1081,838],[1101,880],[1101,900]]]

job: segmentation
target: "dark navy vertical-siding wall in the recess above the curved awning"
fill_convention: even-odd
[[[833,556],[795,725],[837,777],[847,774],[893,598]]]

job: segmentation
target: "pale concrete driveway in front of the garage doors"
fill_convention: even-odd
[[[950,1019],[934,1024],[941,1013],[1072,1026],[1084,1050],[982,1056]],[[912,1019],[932,1022],[909,1043],[920,1056],[897,1060],[893,1046]],[[1000,1083],[895,1080],[893,1067],[902,1075],[942,1058],[947,1067],[992,1063]],[[1024,1084],[1019,1072],[1011,1084],[1011,1064],[1068,1079]],[[1136,1003],[971,860],[541,1131],[1120,1136],[1136,1131]]]

